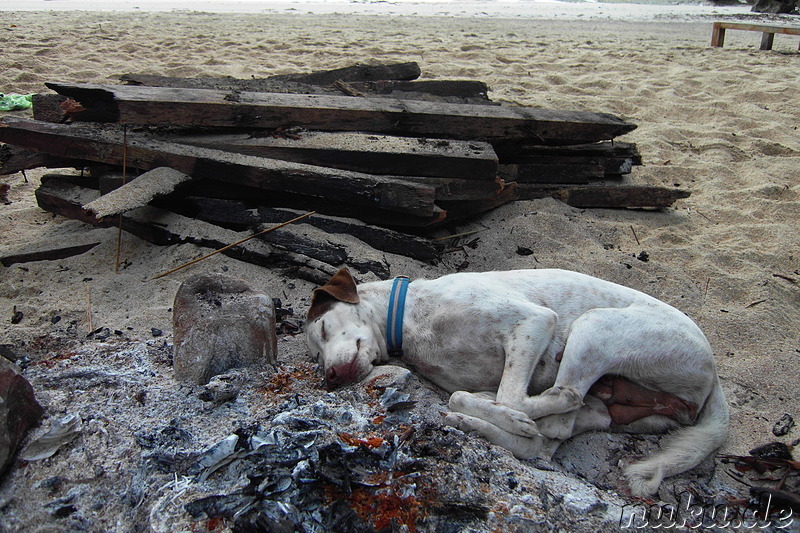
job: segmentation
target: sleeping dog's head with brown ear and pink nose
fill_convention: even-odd
[[[346,268],[314,290],[306,340],[323,367],[328,387],[361,381],[380,357],[380,329],[360,302],[356,282]]]

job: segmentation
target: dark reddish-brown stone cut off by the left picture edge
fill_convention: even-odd
[[[0,476],[11,465],[20,443],[42,414],[44,409],[19,367],[0,357]]]

